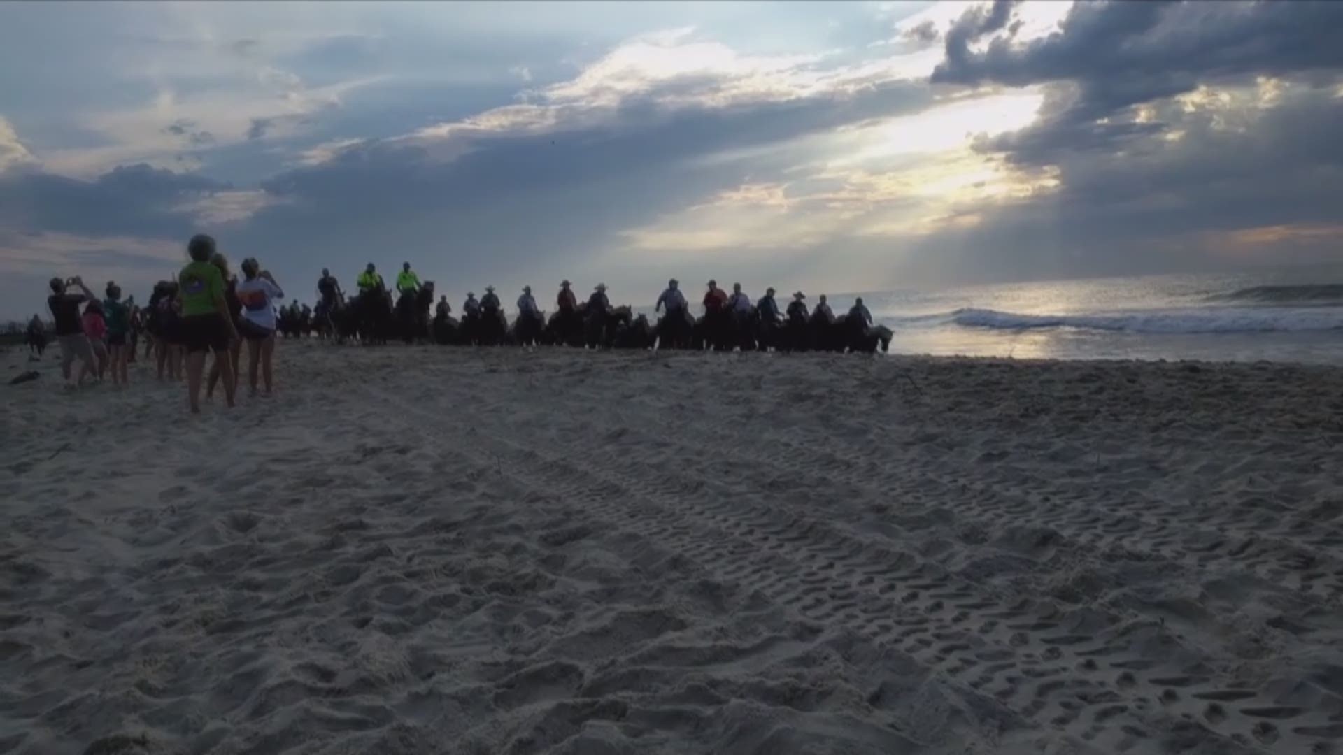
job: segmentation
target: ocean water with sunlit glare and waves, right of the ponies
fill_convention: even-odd
[[[861,296],[894,353],[1343,364],[1339,269]],[[855,297],[829,298],[838,313]]]

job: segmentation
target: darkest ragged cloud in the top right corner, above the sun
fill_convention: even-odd
[[[998,38],[972,52],[970,43],[1002,28],[1006,5],[956,21],[932,82],[1054,85],[1041,121],[994,145],[1022,163],[1046,164],[1074,146],[1120,149],[1160,126],[1096,121],[1201,83],[1343,66],[1343,3],[1077,3],[1049,36],[1026,44]]]

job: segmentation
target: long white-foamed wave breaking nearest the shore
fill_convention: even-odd
[[[1096,314],[1019,314],[994,309],[958,309],[951,321],[964,328],[1026,330],[1074,328],[1131,333],[1262,333],[1343,329],[1343,313],[1319,309],[1219,308],[1113,312]]]

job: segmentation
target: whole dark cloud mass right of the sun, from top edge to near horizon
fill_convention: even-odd
[[[1033,125],[980,137],[975,149],[1026,175],[1053,171],[1058,184],[966,208],[980,223],[925,239],[924,273],[1003,279],[1206,269],[1228,263],[1217,239],[1232,231],[1339,223],[1330,197],[1343,192],[1335,136],[1343,3],[1077,3],[1054,34],[1027,43],[999,36],[970,50],[998,20],[983,9],[958,20],[960,34],[947,35],[947,58],[931,81],[1044,85]],[[1285,85],[1269,95],[1256,89],[1261,77]],[[1234,98],[1189,107],[1175,99],[1199,86]]]

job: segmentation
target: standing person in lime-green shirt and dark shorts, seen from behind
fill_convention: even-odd
[[[224,275],[211,265],[215,239],[197,234],[187,242],[191,262],[177,275],[177,300],[181,304],[181,337],[187,347],[187,392],[192,414],[200,414],[200,383],[205,371],[205,352],[215,352],[215,369],[224,380],[224,400],[234,406],[236,380],[228,344],[238,340],[224,297]]]

